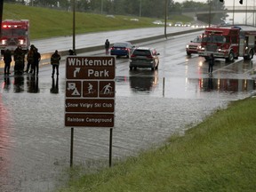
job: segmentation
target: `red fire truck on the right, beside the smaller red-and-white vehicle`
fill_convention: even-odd
[[[255,53],[256,28],[205,28],[198,55],[208,60],[213,53],[215,58],[233,61],[238,57],[252,60]]]

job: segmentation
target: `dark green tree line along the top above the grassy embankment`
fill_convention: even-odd
[[[74,0],[4,0],[6,3],[20,3],[29,6],[44,6],[71,10]],[[166,4],[167,3],[167,4]],[[207,0],[206,3],[184,1],[183,3],[174,2],[173,0],[75,0],[77,12],[93,12],[103,14],[131,15],[137,17],[149,17],[164,19],[165,8],[167,5],[167,15],[169,18],[173,14],[181,14],[190,9],[191,12],[196,10],[209,10],[210,5],[213,10],[224,10],[225,6],[216,0]],[[191,9],[192,8],[192,9]],[[226,14],[212,15],[212,23],[225,20]],[[202,16],[204,22],[208,22],[207,17]]]

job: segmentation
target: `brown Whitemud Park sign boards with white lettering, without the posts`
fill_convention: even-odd
[[[115,77],[115,57],[68,57],[65,126],[114,127]]]

